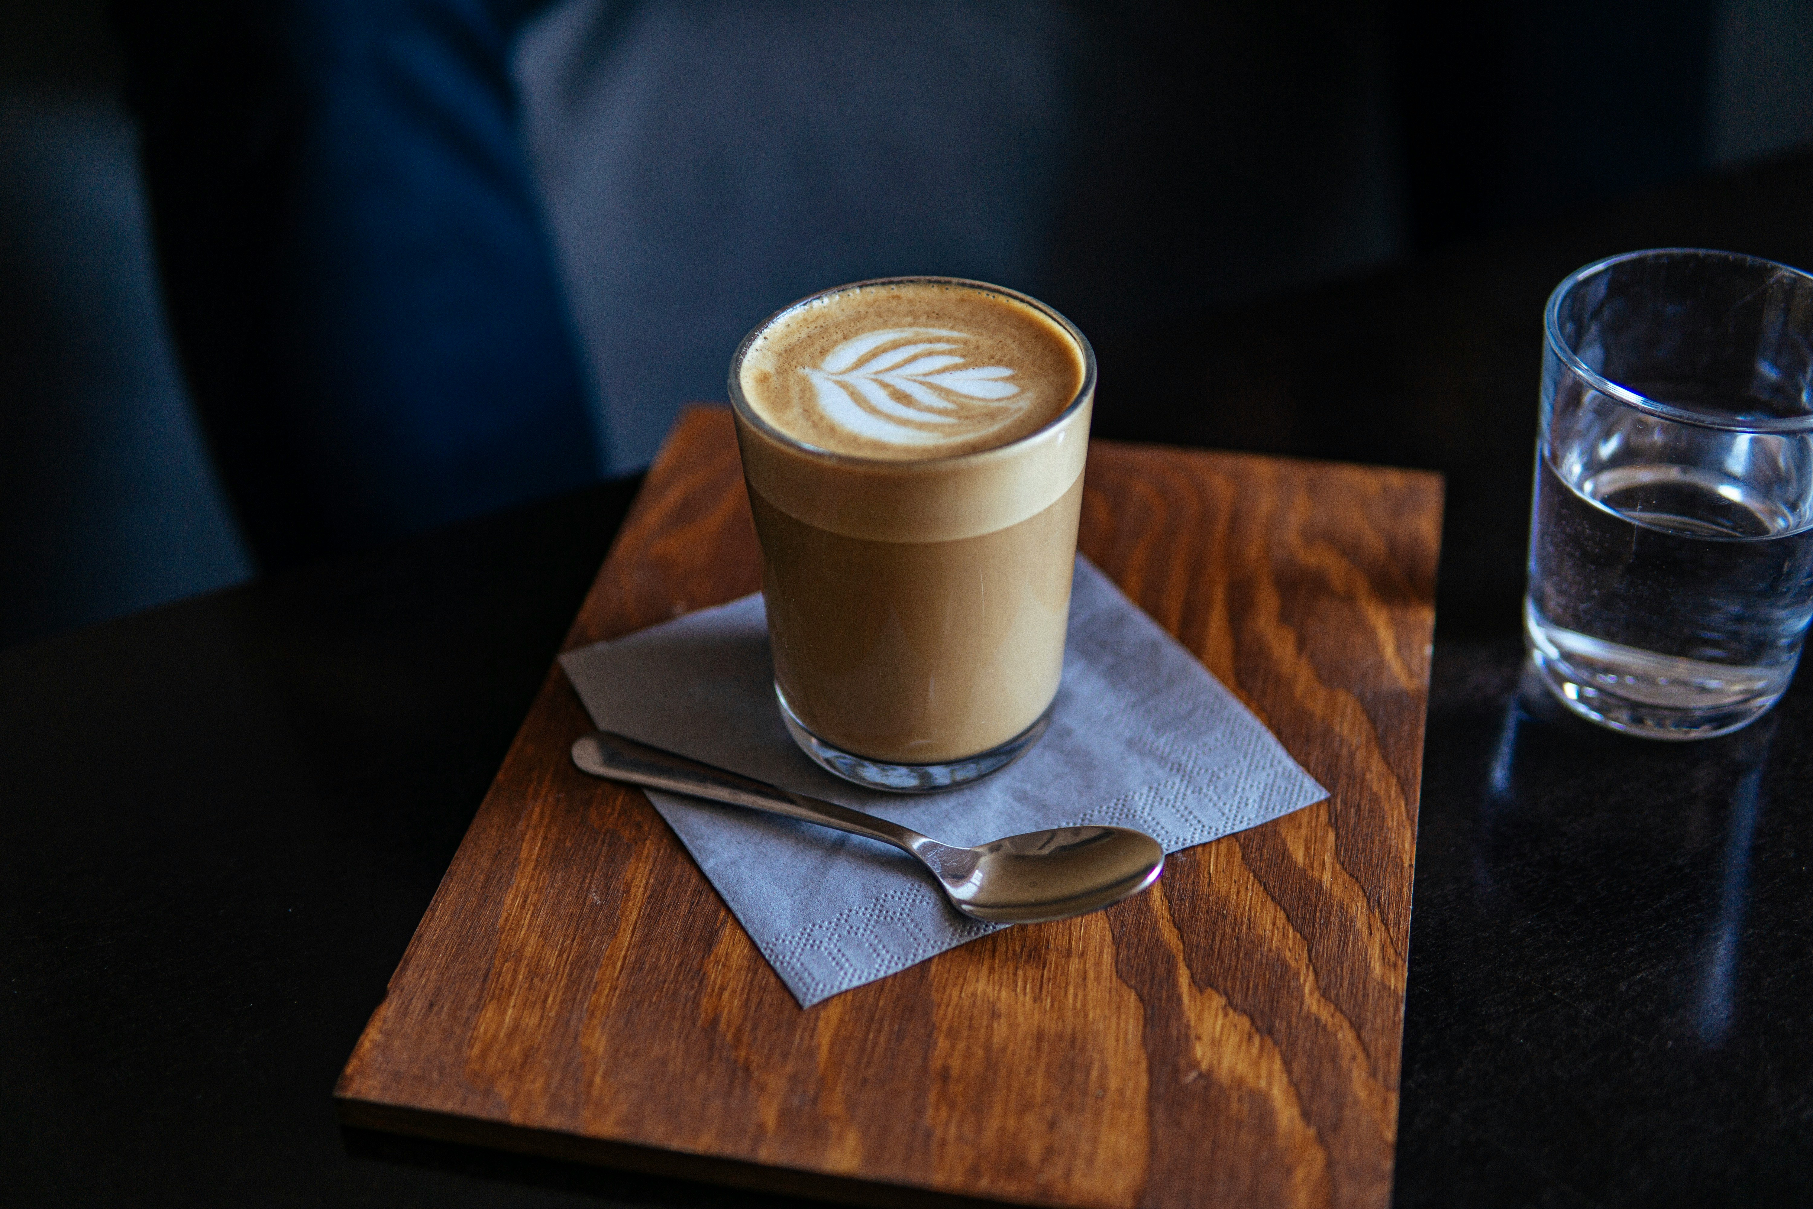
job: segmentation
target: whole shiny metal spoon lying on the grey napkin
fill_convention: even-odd
[[[937,875],[952,906],[988,923],[1030,924],[1082,915],[1139,894],[1164,870],[1159,841],[1129,827],[1057,827],[952,848],[861,810],[790,794],[611,730],[573,743],[573,763],[613,781],[769,810],[890,843]]]

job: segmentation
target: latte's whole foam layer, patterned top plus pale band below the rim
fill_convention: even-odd
[[[908,279],[816,295],[752,335],[732,366],[745,479],[780,511],[854,538],[946,542],[1019,524],[1082,473],[1084,350],[1061,321],[992,286]],[[850,408],[892,390],[890,404],[910,399],[946,421],[861,408],[852,424],[868,433],[879,421],[912,433],[885,444],[836,419],[839,395],[825,411],[829,388]],[[925,401],[934,395],[950,406]]]

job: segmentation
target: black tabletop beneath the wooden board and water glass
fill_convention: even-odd
[[[1800,156],[1099,350],[1099,435],[1449,475],[1400,1205],[1813,1202],[1809,692],[1628,740],[1517,631],[1548,290],[1813,266],[1808,198]],[[780,1204],[334,1118],[635,486],[0,653],[0,1200]]]

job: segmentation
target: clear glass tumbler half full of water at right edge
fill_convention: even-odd
[[[1632,252],[1563,281],[1546,330],[1530,658],[1615,730],[1737,730],[1813,614],[1813,277]]]

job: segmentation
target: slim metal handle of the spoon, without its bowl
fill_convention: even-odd
[[[709,798],[711,801],[723,801],[732,807],[749,807],[751,810],[785,814],[790,819],[818,823],[819,827],[834,827],[839,832],[879,839],[914,856],[919,856],[921,848],[930,843],[919,832],[877,819],[872,814],[850,810],[834,801],[807,798],[805,794],[790,794],[767,781],[714,769],[709,763],[638,743],[613,730],[595,730],[573,743],[573,763],[584,772],[613,781],[665,788],[674,794]]]

